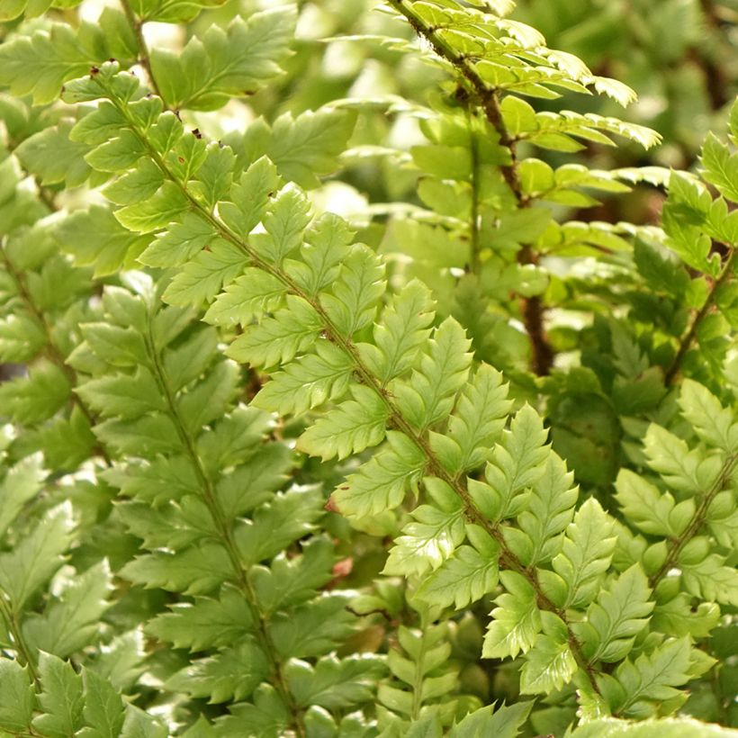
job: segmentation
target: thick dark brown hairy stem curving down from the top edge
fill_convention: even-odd
[[[410,23],[413,30],[422,39],[428,41],[432,49],[440,58],[446,59],[463,79],[473,89],[484,111],[487,121],[500,136],[500,145],[508,148],[510,152],[510,163],[500,165],[500,174],[508,184],[511,192],[518,201],[518,207],[525,208],[530,204],[529,199],[523,194],[523,189],[518,178],[518,160],[515,152],[515,139],[509,135],[500,111],[500,100],[497,92],[488,86],[477,73],[473,63],[464,55],[458,54],[453,46],[446,42],[432,27],[423,22],[418,15],[404,4],[404,0],[388,0],[388,3]],[[536,264],[536,255],[527,246],[518,254],[518,263]],[[524,297],[523,320],[527,329],[531,344],[531,369],[539,376],[550,374],[554,364],[554,349],[548,342],[545,334],[544,304],[540,297]]]

